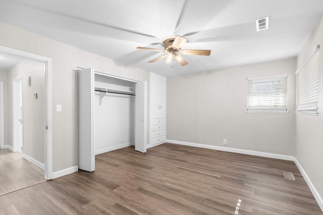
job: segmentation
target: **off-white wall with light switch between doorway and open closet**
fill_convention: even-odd
[[[53,172],[77,166],[77,66],[149,82],[149,73],[144,70],[4,23],[0,23],[0,31],[0,45],[52,58]],[[62,112],[56,112],[57,104],[62,105]]]

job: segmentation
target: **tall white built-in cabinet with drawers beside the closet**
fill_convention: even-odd
[[[150,73],[150,146],[166,141],[167,78]]]

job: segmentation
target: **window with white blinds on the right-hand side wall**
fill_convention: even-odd
[[[296,71],[296,113],[317,115],[319,46]]]

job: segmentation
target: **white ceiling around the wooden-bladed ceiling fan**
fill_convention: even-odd
[[[0,0],[0,22],[165,76],[296,56],[322,12],[322,0]],[[265,16],[269,29],[256,32]],[[211,55],[171,67],[136,49],[172,35]]]

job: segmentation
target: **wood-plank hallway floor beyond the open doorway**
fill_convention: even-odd
[[[0,150],[0,195],[44,181],[44,171],[18,152]]]

